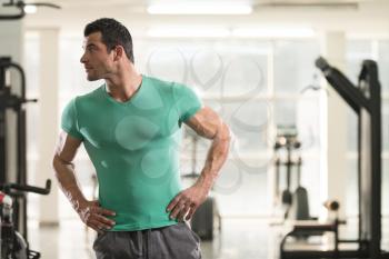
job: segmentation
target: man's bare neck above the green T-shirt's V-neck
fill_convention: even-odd
[[[113,77],[106,78],[107,92],[117,101],[126,102],[137,92],[142,82],[133,64],[120,69]]]

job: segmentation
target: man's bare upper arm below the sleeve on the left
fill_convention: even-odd
[[[56,146],[54,158],[70,163],[74,159],[81,142],[82,140],[77,139],[61,130]]]

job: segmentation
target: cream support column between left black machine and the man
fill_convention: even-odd
[[[52,169],[52,157],[58,138],[58,57],[59,29],[48,28],[39,30],[40,36],[40,96],[39,96],[39,145],[37,182],[52,180],[49,196],[40,197],[41,226],[57,226],[58,187]]]

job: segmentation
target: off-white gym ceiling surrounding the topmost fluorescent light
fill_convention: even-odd
[[[0,3],[9,0],[0,0]],[[320,30],[372,29],[389,33],[389,0],[26,0],[50,2],[61,10],[39,8],[24,19],[27,28],[59,27],[79,31],[86,22],[100,17],[114,17],[144,31],[152,26],[239,26],[298,24]],[[240,16],[152,16],[147,13],[151,3],[249,3],[251,14]],[[1,10],[1,8],[0,8]]]

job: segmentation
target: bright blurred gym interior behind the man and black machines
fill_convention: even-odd
[[[87,81],[79,62],[83,27],[101,17],[116,18],[130,30],[134,63],[141,73],[194,89],[233,133],[229,158],[211,193],[212,220],[220,228],[213,229],[211,240],[203,240],[203,258],[278,258],[285,205],[276,186],[277,180],[281,186],[287,180],[282,172],[276,178],[275,142],[282,127],[291,128],[301,143],[300,185],[308,192],[310,216],[326,217],[322,203],[336,199],[339,216],[350,222],[342,233],[356,235],[352,223],[359,216],[358,117],[315,67],[319,56],[356,84],[362,60],[378,63],[382,102],[381,211],[386,226],[389,1],[44,2],[60,9],[26,0],[23,18],[0,19],[0,56],[11,57],[24,69],[26,96],[38,99],[24,104],[27,182],[44,186],[46,179],[53,180],[49,196],[28,195],[28,240],[31,249],[42,253],[41,258],[94,258],[94,233],[81,225],[58,189],[51,159],[63,107],[102,83]],[[0,0],[0,16],[18,13],[17,4]],[[12,91],[17,92],[18,83],[14,84]],[[12,128],[8,132],[7,152],[12,153]],[[181,173],[199,172],[210,142],[194,138],[186,129],[182,138]],[[12,166],[12,155],[8,159],[8,181],[12,181],[17,167]],[[96,172],[83,148],[76,158],[76,168],[86,196],[92,198],[97,191]],[[183,186],[191,181],[182,178]],[[385,248],[389,237],[382,229]]]

